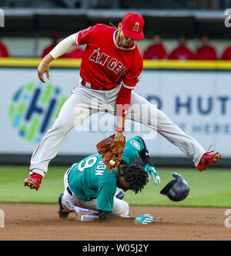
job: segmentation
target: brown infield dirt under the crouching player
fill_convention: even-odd
[[[231,240],[224,208],[130,207],[130,217],[152,214],[155,221],[148,225],[133,224],[131,219],[81,222],[75,214],[62,221],[58,204],[0,204],[0,208],[5,213],[0,241]]]

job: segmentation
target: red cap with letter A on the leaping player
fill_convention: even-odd
[[[127,13],[122,19],[122,32],[129,39],[142,40],[144,19],[137,13]]]

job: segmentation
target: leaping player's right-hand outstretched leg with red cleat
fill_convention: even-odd
[[[136,107],[132,107],[132,106]],[[139,107],[137,107],[137,105]],[[146,111],[142,111],[146,109]],[[132,112],[134,112],[132,114]],[[189,157],[198,170],[203,171],[221,158],[220,153],[206,152],[202,145],[191,136],[184,133],[161,110],[157,109],[146,99],[132,92],[131,108],[128,118],[149,126],[156,130],[172,144],[179,147]]]

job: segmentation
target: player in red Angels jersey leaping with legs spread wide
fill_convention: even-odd
[[[42,177],[48,170],[49,162],[59,151],[62,140],[69,130],[88,118],[92,113],[105,112],[117,116],[115,140],[123,140],[125,119],[132,119],[157,130],[191,158],[198,170],[205,170],[219,160],[220,153],[206,152],[191,136],[172,123],[146,99],[132,92],[139,82],[143,62],[136,45],[142,40],[145,22],[141,15],[128,13],[119,23],[118,29],[97,24],[84,29],[59,42],[39,65],[39,79],[46,73],[49,79],[49,63],[69,52],[75,45],[86,45],[77,86],[60,110],[59,117],[45,133],[31,159],[31,176],[24,180],[25,186],[38,190]],[[146,113],[129,106],[147,106]],[[156,119],[150,121],[150,116]],[[152,120],[155,120],[152,121]]]

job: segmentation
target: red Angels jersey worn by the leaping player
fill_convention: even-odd
[[[112,89],[121,82],[134,89],[143,68],[142,56],[134,42],[122,48],[115,42],[115,28],[97,24],[77,33],[75,44],[87,45],[80,68],[80,76],[95,86]]]

